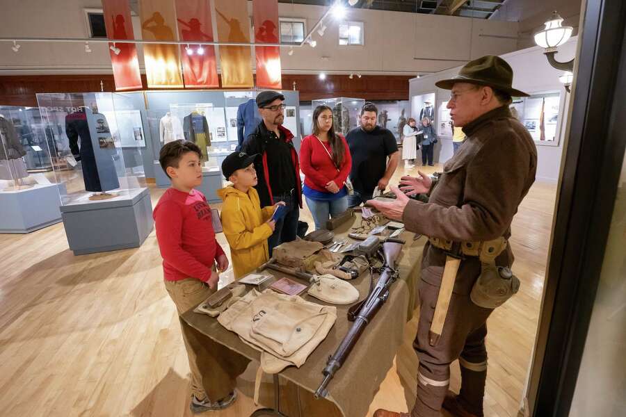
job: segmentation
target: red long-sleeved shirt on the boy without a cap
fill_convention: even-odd
[[[211,207],[198,190],[169,188],[154,207],[157,241],[167,281],[198,278],[208,281],[217,256],[224,251],[215,239]]]

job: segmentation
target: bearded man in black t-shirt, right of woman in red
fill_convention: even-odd
[[[351,207],[371,199],[375,188],[384,191],[398,167],[400,154],[396,138],[388,129],[376,126],[377,115],[378,108],[366,103],[361,109],[361,126],[346,135],[352,156],[350,179],[354,194],[348,196]]]

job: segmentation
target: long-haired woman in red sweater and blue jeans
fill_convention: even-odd
[[[335,133],[332,110],[317,106],[313,111],[313,134],[300,145],[300,169],[305,174],[302,193],[313,215],[315,229],[326,227],[326,220],[348,208],[345,182],[352,158],[346,139]]]

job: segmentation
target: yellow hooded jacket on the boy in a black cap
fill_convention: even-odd
[[[234,277],[239,279],[252,272],[269,259],[267,238],[272,229],[266,223],[273,207],[261,208],[259,194],[250,187],[248,193],[232,186],[221,188],[217,195],[222,205],[222,228],[232,256]]]

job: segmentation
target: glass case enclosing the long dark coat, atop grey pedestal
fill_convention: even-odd
[[[145,132],[133,102],[109,92],[38,94],[61,204],[132,195],[145,188]]]

